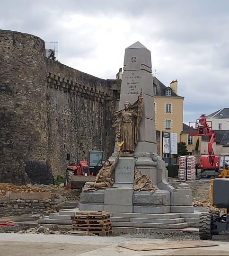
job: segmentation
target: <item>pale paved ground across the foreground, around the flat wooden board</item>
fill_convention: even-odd
[[[212,241],[217,247],[136,252],[121,243],[166,243],[166,239],[86,237],[0,233],[0,255],[7,256],[153,256],[229,255],[229,243]],[[188,243],[188,241],[187,241]]]

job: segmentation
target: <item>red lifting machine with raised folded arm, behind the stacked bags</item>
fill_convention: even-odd
[[[215,132],[212,131],[212,124],[206,120],[205,115],[201,115],[196,122],[189,122],[190,136],[208,136],[208,154],[201,155],[198,165],[196,178],[218,176],[219,174],[219,155],[215,155],[212,144],[215,141]]]

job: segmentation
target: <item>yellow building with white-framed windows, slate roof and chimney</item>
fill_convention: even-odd
[[[177,133],[177,142],[183,131],[183,103],[184,97],[177,95],[177,80],[172,81],[166,87],[156,77],[153,77],[154,110],[156,130],[162,132]],[[160,139],[160,156],[168,158],[169,154],[163,156],[162,139]]]

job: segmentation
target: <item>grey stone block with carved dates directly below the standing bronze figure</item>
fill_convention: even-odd
[[[133,157],[120,157],[115,168],[115,183],[133,183],[135,159]]]

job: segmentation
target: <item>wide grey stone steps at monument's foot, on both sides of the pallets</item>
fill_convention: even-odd
[[[71,216],[79,209],[60,210],[59,213],[51,213],[47,217],[41,217],[39,224],[71,225]],[[157,231],[184,230],[187,228],[198,228],[201,212],[194,213],[124,213],[111,212],[111,221],[116,232],[140,232],[145,229],[156,229]],[[135,231],[134,231],[135,230]],[[138,231],[136,231],[138,230]],[[145,230],[147,232],[147,230]],[[142,232],[142,231],[141,231]]]

